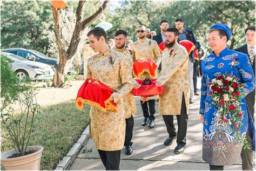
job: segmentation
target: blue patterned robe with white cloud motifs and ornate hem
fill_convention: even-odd
[[[235,57],[238,58],[232,66],[231,63]],[[204,114],[203,160],[215,166],[232,165],[240,157],[241,149],[244,146],[242,140],[235,140],[234,137],[245,136],[248,128],[245,98],[241,99],[244,104],[240,105],[244,114],[241,120],[243,126],[237,130],[220,120],[217,108],[213,107],[211,97],[207,96],[211,92],[208,83],[211,83],[212,79],[220,74],[227,72],[239,78],[239,83],[245,83],[243,91],[247,95],[254,90],[253,69],[247,54],[230,50],[227,47],[220,52],[219,57],[211,53],[201,61],[201,69],[203,76],[201,79],[200,114]],[[229,119],[228,115],[227,119]]]

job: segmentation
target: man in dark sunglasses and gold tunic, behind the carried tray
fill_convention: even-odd
[[[131,45],[132,58],[133,60],[137,59],[152,59],[158,66],[161,61],[161,54],[157,42],[151,39],[146,38],[146,27],[141,25],[137,28],[138,40]],[[150,78],[150,74],[144,72],[139,79],[144,80],[145,78]],[[134,84],[134,88],[139,88],[139,84]],[[154,113],[156,113],[156,99],[158,95],[153,97],[148,97],[143,103],[143,98],[140,98],[140,104],[142,106],[142,111],[144,115],[144,120],[142,121],[142,126],[149,126],[150,128],[154,127]]]

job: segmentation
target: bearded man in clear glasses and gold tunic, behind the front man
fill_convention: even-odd
[[[120,53],[123,53],[125,56],[127,56],[130,59],[130,64],[132,65],[132,51],[128,49],[127,46],[125,46],[127,40],[128,39],[127,39],[126,31],[118,30],[114,37],[114,42],[116,43],[116,45],[112,49]],[[131,142],[132,129],[134,126],[133,116],[136,114],[136,104],[135,104],[135,99],[132,92],[129,92],[123,98],[123,108],[125,112],[125,122],[126,122],[125,140],[124,140],[125,154],[131,155],[132,154],[132,142]]]

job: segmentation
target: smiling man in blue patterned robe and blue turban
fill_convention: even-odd
[[[225,73],[237,77],[239,83],[245,84],[242,89],[245,95],[254,89],[254,74],[247,54],[230,50],[226,45],[231,36],[232,32],[227,25],[213,25],[208,32],[208,45],[213,52],[201,61],[203,75],[199,113],[203,124],[203,160],[210,165],[210,170],[223,170],[225,165],[234,164],[244,146],[247,129],[253,127],[244,97],[240,99],[241,126],[235,129],[228,115],[227,122],[222,120],[209,94],[212,80]]]

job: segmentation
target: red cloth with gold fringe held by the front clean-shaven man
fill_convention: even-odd
[[[89,77],[78,90],[76,107],[82,111],[83,103],[85,103],[98,107],[103,112],[106,110],[117,112],[117,104],[109,100],[112,93],[112,88],[104,85],[96,78]]]

